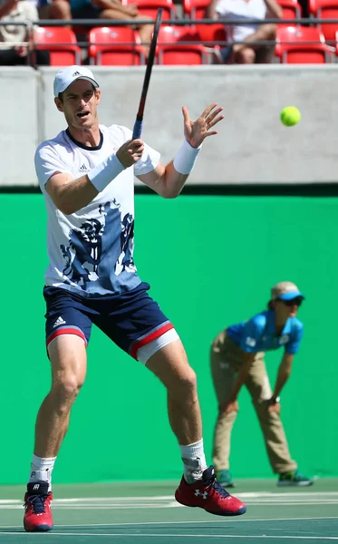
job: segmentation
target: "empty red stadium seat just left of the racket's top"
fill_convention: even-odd
[[[145,63],[140,36],[128,26],[101,26],[89,33],[91,64],[132,66]]]

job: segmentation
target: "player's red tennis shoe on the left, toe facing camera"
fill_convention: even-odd
[[[47,481],[30,481],[24,495],[24,529],[45,531],[53,529],[51,504],[52,491],[48,491]]]

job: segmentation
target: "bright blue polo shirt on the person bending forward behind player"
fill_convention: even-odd
[[[296,354],[303,336],[303,323],[296,317],[289,317],[283,331],[275,335],[275,312],[266,310],[248,321],[227,327],[227,335],[243,351],[248,353],[266,352],[285,346],[286,354]]]

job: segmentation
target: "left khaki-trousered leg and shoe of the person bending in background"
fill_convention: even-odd
[[[215,338],[210,348],[211,376],[217,396],[218,408],[230,398],[236,379],[236,365],[232,355],[231,341],[227,331],[222,331]],[[233,487],[229,471],[230,437],[237,412],[220,413],[218,411],[214,431],[212,461],[215,466],[217,481],[223,487]]]

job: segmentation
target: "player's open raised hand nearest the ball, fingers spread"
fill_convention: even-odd
[[[217,107],[217,103],[210,104],[196,121],[190,121],[188,108],[183,106],[182,113],[184,117],[184,135],[191,147],[198,148],[205,138],[214,136],[217,131],[210,131],[217,122],[224,119],[223,108]]]

